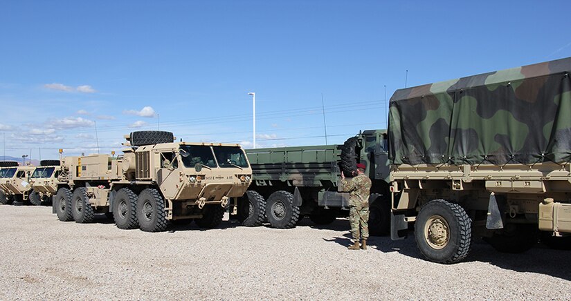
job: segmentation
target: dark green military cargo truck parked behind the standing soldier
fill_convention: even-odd
[[[356,163],[363,162],[372,179],[370,233],[388,234],[386,140],[386,130],[365,130],[342,145],[246,150],[254,180],[239,200],[238,219],[246,226],[258,226],[266,218],[274,228],[285,229],[304,216],[316,224],[347,216],[349,194],[338,191],[341,171],[352,177]]]

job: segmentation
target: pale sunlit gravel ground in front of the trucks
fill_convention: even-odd
[[[0,206],[0,300],[571,298],[571,253],[520,255],[476,241],[466,262],[422,260],[412,237],[349,251],[349,222],[296,229],[120,230],[59,222],[49,207]]]

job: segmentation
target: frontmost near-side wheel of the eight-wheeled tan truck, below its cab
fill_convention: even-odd
[[[141,191],[136,205],[137,220],[145,232],[161,232],[167,229],[167,217],[163,197],[154,188]]]

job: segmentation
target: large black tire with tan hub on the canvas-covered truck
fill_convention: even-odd
[[[470,251],[471,237],[471,220],[460,205],[433,200],[420,209],[415,240],[428,260],[444,264],[459,262]]]

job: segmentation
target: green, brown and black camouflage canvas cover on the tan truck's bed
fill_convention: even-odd
[[[571,161],[571,57],[395,91],[391,164]]]

